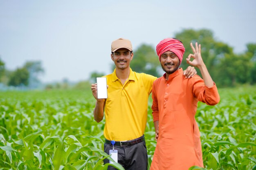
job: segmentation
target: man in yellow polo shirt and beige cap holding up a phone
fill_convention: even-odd
[[[94,119],[100,122],[105,110],[104,152],[118,151],[118,163],[126,170],[147,170],[148,157],[144,130],[148,112],[148,96],[157,77],[136,73],[130,68],[133,58],[130,40],[119,38],[111,44],[111,59],[115,63],[112,74],[106,75],[108,98],[97,98],[97,84],[91,90],[97,100]],[[184,71],[191,77],[196,74],[193,67]],[[113,142],[114,141],[114,142]],[[112,142],[112,143],[111,143]],[[114,144],[114,145],[113,145]],[[108,163],[104,159],[104,163]],[[108,170],[115,169],[108,167]]]

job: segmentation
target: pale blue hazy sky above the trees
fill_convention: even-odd
[[[243,53],[256,43],[255,0],[0,0],[0,58],[14,71],[41,61],[44,83],[112,73],[111,42],[154,48],[183,29],[209,29]],[[202,44],[203,46],[203,44]],[[136,56],[134,56],[136,57]]]

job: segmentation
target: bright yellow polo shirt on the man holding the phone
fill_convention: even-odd
[[[148,96],[157,77],[136,73],[131,68],[124,84],[117,78],[116,70],[104,77],[108,84],[104,136],[115,141],[141,137],[146,128]]]

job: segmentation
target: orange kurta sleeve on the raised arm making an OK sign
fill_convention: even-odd
[[[196,81],[193,81],[193,95],[203,103],[207,105],[216,105],[220,102],[220,95],[216,84],[212,87],[204,85],[204,80],[201,77],[196,77]]]

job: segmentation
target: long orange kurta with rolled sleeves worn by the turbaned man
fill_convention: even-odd
[[[182,68],[153,83],[153,119],[159,120],[159,137],[150,170],[188,170],[203,167],[200,132],[195,121],[198,101],[220,101],[216,85],[208,88],[195,75],[186,79]]]

